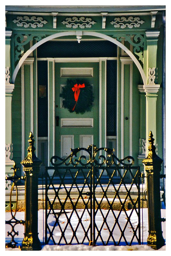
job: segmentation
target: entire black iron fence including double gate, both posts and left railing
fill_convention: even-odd
[[[162,160],[155,153],[152,132],[149,136],[149,155],[143,160],[148,199],[149,236],[147,244],[158,249],[165,244],[161,230],[161,221],[164,220],[161,219],[160,212]],[[6,177],[6,180],[13,182],[11,191],[17,181],[25,180],[25,221],[16,219],[17,206],[14,213],[11,209],[11,220],[6,221],[11,226],[11,231],[8,232],[11,242],[6,246],[16,246],[14,237],[18,233],[14,228],[20,223],[25,227],[21,250],[41,250],[38,237],[38,175],[41,161],[34,153],[32,133],[30,133],[28,142],[28,155],[21,162],[24,166],[25,177],[16,175],[16,166],[13,168],[13,176]],[[58,156],[52,157],[52,166],[46,167],[46,244],[121,245],[123,242],[127,245],[140,244],[140,176],[143,177],[143,175],[140,174],[139,167],[133,166],[133,157],[118,159],[113,150],[98,149],[94,145],[87,149],[76,148],[71,151],[71,155],[66,159]],[[104,151],[103,154],[102,151]],[[129,186],[126,184],[128,176],[132,180]],[[133,188],[136,188],[137,194]],[[53,197],[49,196],[50,194],[53,194]],[[119,205],[117,214],[114,211],[116,201]],[[130,209],[129,214],[128,209]],[[138,220],[136,225],[131,220],[133,212]],[[123,214],[124,224],[120,221]],[[49,225],[48,222],[50,215],[54,218],[53,225]],[[112,222],[109,221],[109,217]],[[131,232],[129,239],[125,235],[128,228]],[[67,232],[68,229],[69,232]],[[80,229],[83,230],[84,236],[79,235]],[[117,237],[114,235],[115,231],[117,231]]]

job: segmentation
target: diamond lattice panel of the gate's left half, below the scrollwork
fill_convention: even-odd
[[[63,174],[61,174],[61,172]],[[87,198],[87,196],[84,196],[84,195],[88,195],[92,190],[92,187],[90,185],[91,169],[88,170],[87,168],[78,167],[77,170],[75,170],[75,168],[65,167],[65,168],[61,168],[60,170],[57,169],[56,171],[54,171],[52,178],[49,176],[48,172],[46,174],[47,174],[46,176],[46,199],[47,200],[46,200],[45,208],[46,209],[49,208],[49,210],[47,210],[47,214],[46,214],[45,229],[48,231],[49,236],[46,233],[45,243],[48,244],[50,239],[53,241],[54,244],[72,244],[72,243],[83,244],[84,242],[89,243],[90,241],[89,236],[90,236],[90,233],[92,233],[92,230],[91,230],[92,227],[91,227],[91,224],[89,224],[87,227],[84,227],[84,224],[83,224],[84,221],[82,222],[82,218],[83,218],[83,215],[86,215],[86,214],[87,214],[87,217],[89,216],[89,218],[92,215],[91,196],[88,199],[85,199]],[[79,186],[79,181],[77,182],[77,179],[79,179],[80,174],[85,179],[81,187]],[[57,187],[55,187],[53,184],[54,182],[53,180],[55,177],[59,177],[59,182],[58,182],[59,185]],[[70,186],[65,184],[67,183],[67,180],[69,178],[72,179]],[[53,198],[52,202],[48,198],[48,192],[50,191],[50,186],[55,191],[55,197]],[[73,189],[77,190],[76,199],[75,197],[73,197],[75,193],[71,193]],[[85,207],[83,212],[81,212],[81,215],[79,214],[80,212],[77,212],[77,205],[80,199],[82,200],[82,204]],[[58,200],[59,202],[59,205],[57,207],[55,207],[56,200]],[[67,210],[65,210],[67,208],[68,201],[72,206],[71,212],[68,212]],[[90,209],[88,209],[89,204],[90,204]],[[58,208],[59,210],[55,211],[55,208]],[[54,222],[54,225],[52,226],[51,226],[51,223],[48,224],[49,214],[54,214],[54,217],[55,217],[55,222]],[[65,217],[64,220],[62,216]],[[63,221],[61,220],[61,217]],[[72,221],[74,221],[75,218],[77,218],[78,220],[78,223],[76,226],[72,224]],[[84,230],[85,237],[83,239],[82,238],[80,239],[76,234],[78,227]],[[59,228],[60,236],[54,236],[54,232],[56,232],[56,228],[57,229]],[[68,231],[68,229],[71,229],[70,230],[71,232],[66,232]],[[67,237],[65,235],[65,232],[67,234],[71,233],[71,235]],[[55,239],[55,237],[57,240]]]

